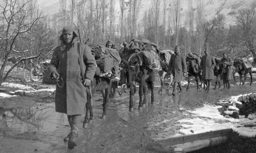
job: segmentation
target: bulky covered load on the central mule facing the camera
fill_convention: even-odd
[[[120,54],[124,55],[125,59],[128,57],[128,61],[136,55],[140,55],[144,59],[142,60],[144,63],[140,63],[140,65],[148,66],[153,71],[162,70],[158,46],[147,39],[132,39],[124,45]]]

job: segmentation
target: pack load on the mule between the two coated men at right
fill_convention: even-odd
[[[200,72],[201,57],[196,53],[188,53],[186,56],[188,73]]]

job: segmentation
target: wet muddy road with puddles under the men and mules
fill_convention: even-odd
[[[188,117],[180,108],[214,105],[222,98],[255,92],[256,85],[232,86],[230,90],[210,93],[191,87],[189,92],[176,96],[165,91],[158,94],[158,90],[155,88],[154,105],[149,102],[141,111],[137,93],[135,109],[129,112],[127,89],[122,96],[110,99],[105,120],[101,118],[102,97],[96,93],[93,122],[83,129],[84,116],[81,117],[78,146],[72,150],[63,141],[70,130],[66,114],[55,112],[54,97],[48,92],[0,98],[0,153],[158,153],[148,144],[154,143],[152,138],[163,139],[178,132],[180,127],[170,123]],[[166,131],[166,127],[171,130]]]

